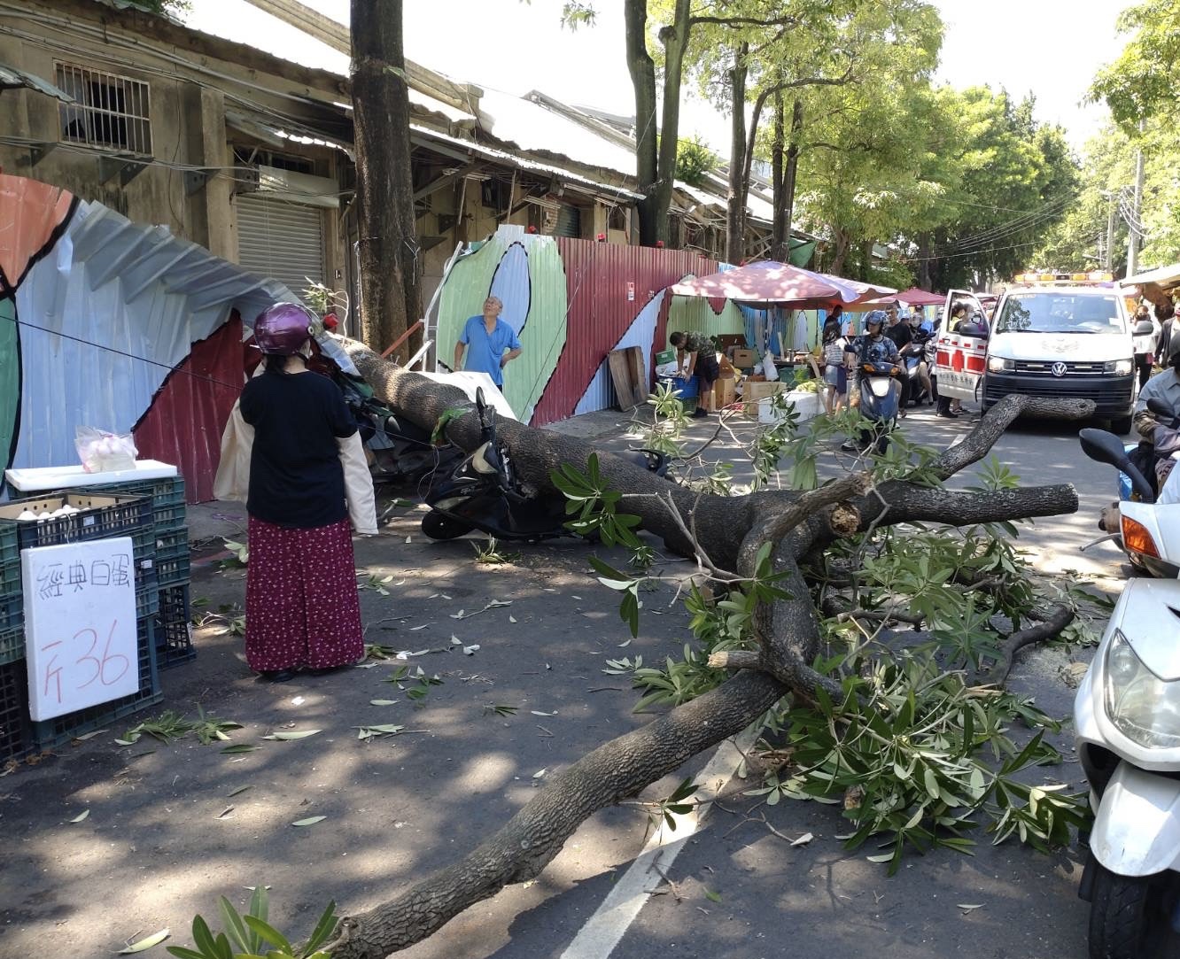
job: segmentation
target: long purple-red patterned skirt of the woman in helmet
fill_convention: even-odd
[[[365,653],[348,520],[297,530],[250,517],[245,661],[250,669],[328,669]]]

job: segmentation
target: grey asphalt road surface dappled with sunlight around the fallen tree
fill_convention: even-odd
[[[905,428],[944,445],[970,425],[937,420],[926,408]],[[693,426],[702,436],[709,428]],[[618,432],[591,431],[602,447],[622,442]],[[1077,552],[1097,536],[1114,477],[1081,455],[1076,427],[1017,425],[995,452],[1024,482],[1070,481],[1081,495],[1077,515],[1024,530],[1034,561],[1116,584],[1121,563],[1112,547]],[[716,455],[732,454],[717,445]],[[243,519],[234,506],[212,508],[230,526]],[[662,662],[678,653],[690,637],[682,611],[669,606],[670,589],[645,595],[632,641],[617,596],[589,574],[583,544],[519,547],[512,565],[487,566],[474,561],[471,543],[425,541],[420,515],[394,511],[381,537],[358,540],[359,570],[384,583],[369,583],[361,603],[368,641],[421,653],[409,665],[441,684],[414,703],[387,682],[391,663],[282,687],[258,683],[240,637],[216,624],[199,630],[198,657],[163,675],[159,709],[192,715],[199,703],[241,722],[232,742],[257,749],[223,754],[191,737],[118,747],[113,738],[132,722],[122,721],[0,779],[0,954],[110,955],[164,927],[172,931],[169,945],[183,945],[196,912],[215,917],[218,895],[244,905],[243,887],[256,882],[271,886],[271,920],[291,937],[306,934],[327,899],[350,911],[388,899],[478,845],[553,770],[647,721],[631,711],[636,694],[627,677],[603,669],[611,658]],[[241,604],[244,592],[241,573],[218,572],[216,557],[198,556],[194,566],[192,595],[208,610]],[[689,566],[669,572],[677,569]],[[511,605],[489,607],[493,599]],[[1030,651],[1017,661],[1012,685],[1068,715],[1073,690],[1061,669],[1071,655],[1086,653]],[[404,729],[361,738],[360,728],[374,724]],[[264,738],[284,728],[321,731],[295,742]],[[1060,743],[1068,750],[1068,731]],[[759,804],[741,795],[759,781],[732,779],[735,768],[730,747],[696,757],[645,793],[666,796],[693,774],[721,795],[699,828],[686,826],[670,838],[677,842],[644,854],[645,872],[632,869],[651,840],[645,816],[636,807],[607,809],[533,882],[470,908],[406,954],[1086,955],[1076,848],[1044,856],[1011,842],[991,847],[981,834],[975,856],[910,856],[889,878],[866,860],[874,849],[843,848],[835,836],[846,823],[834,807]],[[1081,787],[1076,763],[1044,771]],[[326,819],[291,827],[314,816]],[[791,845],[807,833],[809,842]],[[163,946],[145,953],[160,954]]]

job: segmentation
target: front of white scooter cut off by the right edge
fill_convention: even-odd
[[[1083,440],[1087,455],[1126,471],[1121,440],[1102,436],[1109,442]],[[1180,565],[1180,504],[1120,508],[1125,526]],[[1178,955],[1180,580],[1128,580],[1077,690],[1074,728],[1095,816],[1080,889],[1090,959]]]

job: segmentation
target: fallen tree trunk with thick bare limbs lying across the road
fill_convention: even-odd
[[[433,429],[446,409],[471,406],[459,389],[400,369],[359,344],[350,346],[349,353],[376,395],[419,426]],[[1076,402],[1008,398],[959,446],[935,461],[933,475],[948,479],[978,461],[1009,422],[1029,412],[1084,415],[1090,410]],[[446,432],[466,449],[479,442],[473,412],[451,420]],[[581,440],[511,421],[502,422],[498,434],[512,451],[519,475],[538,490],[556,492],[551,471],[563,462],[584,468],[597,452]],[[753,632],[759,650],[736,655],[730,665],[748,669],[712,691],[599,745],[553,775],[502,829],[454,865],[369,912],[342,919],[334,941],[326,946],[334,959],[380,959],[426,938],[504,886],[536,876],[596,810],[635,795],[690,756],[735,735],[784,695],[811,701],[822,689],[833,699],[839,697],[840,684],[811,666],[819,652],[820,629],[811,586],[799,565],[805,557],[841,537],[896,523],[963,526],[1077,508],[1069,485],[972,493],[923,485],[929,484],[925,479],[872,487],[864,475],[808,493],[727,498],[699,494],[610,454],[598,453],[598,459],[610,485],[627,494],[628,510],[673,549],[691,553],[703,547],[715,564],[749,578],[761,547],[773,545],[771,560],[781,576],[781,596],[755,609]],[[686,528],[695,532],[696,541]],[[1014,636],[1012,651],[1024,642],[1031,639]]]

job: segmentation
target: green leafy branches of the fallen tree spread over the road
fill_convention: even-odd
[[[786,418],[763,431],[765,448],[754,444],[752,459],[763,459],[767,479],[786,455],[792,485],[814,488],[815,460],[841,433],[854,434],[864,422],[856,410],[818,421],[806,432]],[[930,469],[933,451],[891,435],[889,452],[870,462],[877,482],[905,477],[939,485]],[[555,475],[555,481],[558,477]],[[976,491],[1010,490],[1017,478],[997,460],[977,473]],[[565,466],[559,486],[576,506],[576,523],[586,533],[610,528],[620,498],[602,484],[597,464],[586,474]],[[610,541],[641,543],[634,525]],[[906,849],[942,846],[970,852],[964,833],[981,820],[995,842],[1010,836],[1048,849],[1068,841],[1069,829],[1086,822],[1082,795],[1060,784],[1032,784],[1030,770],[1061,762],[1043,740],[1060,725],[1025,698],[977,684],[1001,656],[1001,644],[1017,629],[1055,604],[1068,604],[1079,620],[1068,641],[1094,642],[1094,620],[1109,605],[1086,592],[1084,584],[1040,580],[1016,546],[1012,524],[963,530],[910,524],[885,527],[830,546],[820,569],[808,569],[821,620],[824,652],[814,668],[839,683],[840,696],[820,690],[817,702],[788,696],[763,718],[763,736],[785,762],[766,771],[752,795],[767,803],[811,799],[841,804],[852,832],[848,848],[873,842],[881,852],[871,861],[896,871]],[[599,582],[622,596],[621,616],[638,632],[640,587],[650,571],[628,574],[598,557],[590,564]],[[712,587],[686,590],[693,643],[661,664],[640,656],[608,661],[604,672],[628,676],[640,692],[638,710],[670,708],[725,682],[728,674],[709,665],[709,656],[754,649],[754,612],[759,603],[787,598],[769,559],[769,544],[758,557],[755,573]],[[858,611],[861,615],[858,616]],[[920,623],[906,639],[890,633],[891,615]],[[870,631],[865,623],[878,623]],[[1023,725],[1031,736],[1012,733]],[[655,803],[649,814],[670,826],[691,791]],[[675,807],[675,808],[674,808]]]

